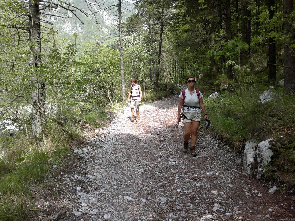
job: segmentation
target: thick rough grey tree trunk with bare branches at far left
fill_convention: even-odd
[[[40,9],[39,0],[29,0],[29,38],[32,42],[30,47],[30,65],[35,69],[42,63],[41,59],[41,29],[40,29]],[[45,112],[45,84],[41,82],[41,73],[32,72],[32,84],[35,88],[32,91],[32,103],[40,110]],[[43,126],[45,124],[45,117],[32,107],[32,134],[36,140],[43,138]]]

